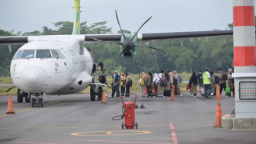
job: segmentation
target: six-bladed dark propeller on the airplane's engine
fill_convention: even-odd
[[[125,52],[126,52],[126,53],[127,53],[127,52],[129,53],[129,52],[130,52],[130,53],[131,53],[131,56],[133,57],[133,60],[134,60],[134,62],[135,62],[135,64],[136,64],[136,68],[137,68],[137,71],[138,71],[138,74],[139,74],[139,66],[138,66],[138,64],[137,64],[137,62],[136,62],[136,59],[134,58],[133,47],[134,47],[134,46],[137,46],[137,47],[146,47],[146,48],[154,49],[154,50],[160,50],[160,49],[157,49],[157,48],[151,47],[151,46],[141,46],[141,45],[135,44],[135,43],[133,42],[133,39],[134,39],[134,38],[136,37],[136,35],[138,34],[139,30],[140,30],[140,29],[144,26],[144,24],[146,24],[152,17],[150,17],[149,19],[147,19],[147,20],[142,24],[142,26],[139,27],[139,30],[137,30],[136,34],[134,34],[134,36],[133,36],[132,39],[130,39],[129,37],[126,37],[126,36],[124,35],[123,29],[122,29],[122,27],[121,27],[121,24],[120,24],[120,22],[119,22],[119,18],[118,18],[118,15],[117,15],[117,10],[116,10],[116,17],[117,17],[117,23],[118,23],[118,25],[119,25],[119,27],[120,27],[120,30],[121,30],[122,35],[123,35],[123,38],[124,38],[124,40],[123,40],[122,43],[115,43],[115,42],[110,42],[110,41],[98,40],[98,39],[96,39],[96,38],[94,38],[94,37],[92,37],[92,39],[95,40],[95,41],[98,41],[98,42],[100,42],[100,43],[114,43],[114,44],[118,44],[118,45],[123,46],[123,51],[120,53],[120,55],[117,57],[117,59],[119,59],[120,56],[122,56],[123,53],[125,53]],[[160,51],[165,52],[164,50],[160,50]],[[115,59],[114,63],[117,62],[117,59]],[[111,65],[108,69],[110,69],[112,66],[114,66],[114,63],[113,63],[113,65]],[[107,69],[107,70],[108,70],[108,69]],[[139,78],[140,78],[140,75],[139,75]]]

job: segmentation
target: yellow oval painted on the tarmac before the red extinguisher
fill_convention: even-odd
[[[143,135],[143,134],[149,134],[149,133],[152,133],[152,132],[139,131],[139,130],[113,130],[113,131],[91,131],[91,132],[71,133],[70,135],[72,136],[127,136],[127,135]]]

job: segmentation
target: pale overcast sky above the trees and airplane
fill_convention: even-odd
[[[53,22],[73,21],[72,7],[74,0],[0,0],[0,29],[56,30]],[[233,21],[232,0],[81,0],[81,7],[81,21],[107,21],[115,34],[120,30],[116,9],[121,27],[132,32],[152,16],[139,33],[226,30]]]

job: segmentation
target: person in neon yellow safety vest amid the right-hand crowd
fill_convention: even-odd
[[[210,98],[212,92],[213,83],[210,79],[210,71],[206,69],[206,72],[203,73],[203,86],[204,86],[204,96],[205,98]]]

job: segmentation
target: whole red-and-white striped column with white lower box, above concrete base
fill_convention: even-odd
[[[256,118],[254,0],[233,0],[235,118]]]

